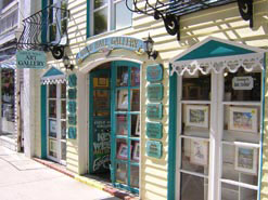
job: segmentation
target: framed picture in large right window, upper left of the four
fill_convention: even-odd
[[[208,128],[208,106],[187,105],[187,125]]]

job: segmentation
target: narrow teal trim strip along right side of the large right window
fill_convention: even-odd
[[[260,200],[261,178],[263,178],[263,144],[264,144],[264,126],[265,126],[265,82],[266,82],[266,53],[264,53],[264,71],[263,71],[263,91],[261,91],[261,124],[260,124],[260,164],[258,172],[258,200]]]

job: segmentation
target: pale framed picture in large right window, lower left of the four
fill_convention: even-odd
[[[197,165],[207,165],[208,144],[202,139],[191,139],[190,162]]]

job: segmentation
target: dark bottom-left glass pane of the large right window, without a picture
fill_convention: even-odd
[[[181,200],[206,200],[208,184],[204,177],[181,173]]]

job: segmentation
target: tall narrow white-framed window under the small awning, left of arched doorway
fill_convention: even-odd
[[[66,84],[48,85],[48,158],[66,163]]]

